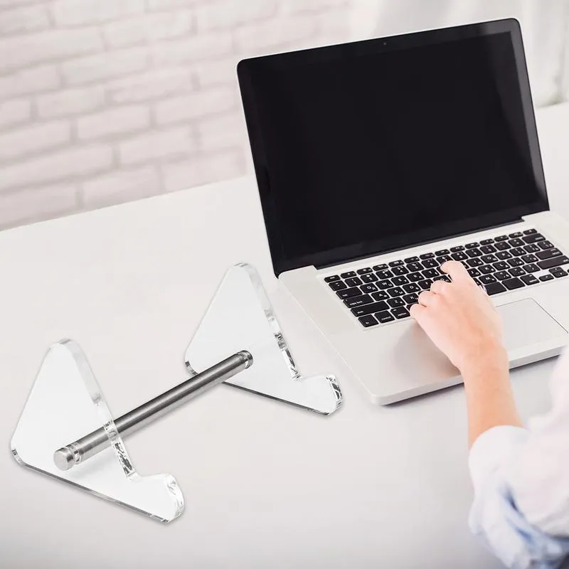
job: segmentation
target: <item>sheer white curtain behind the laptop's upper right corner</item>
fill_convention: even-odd
[[[569,100],[569,0],[355,0],[353,39],[517,18],[536,106]]]

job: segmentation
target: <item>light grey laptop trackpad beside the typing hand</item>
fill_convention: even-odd
[[[502,304],[497,310],[509,353],[555,339],[566,341],[567,331],[531,298]]]

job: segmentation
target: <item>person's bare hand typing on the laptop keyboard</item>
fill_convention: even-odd
[[[448,261],[441,268],[452,282],[433,282],[411,307],[411,316],[463,376],[485,364],[507,370],[501,321],[490,298],[462,263]]]

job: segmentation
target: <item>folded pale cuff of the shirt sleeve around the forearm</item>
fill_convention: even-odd
[[[478,491],[489,475],[509,459],[512,450],[527,440],[528,431],[513,425],[491,427],[479,435],[468,458],[474,491]]]

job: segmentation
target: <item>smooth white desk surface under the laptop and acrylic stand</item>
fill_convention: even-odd
[[[554,210],[569,217],[569,105],[538,112]],[[18,466],[9,441],[43,354],[77,340],[115,415],[183,381],[183,354],[225,270],[261,272],[302,371],[336,373],[329,418],[222,385],[127,440],[170,472],[186,511],[161,525]],[[252,179],[0,234],[0,567],[498,568],[467,528],[462,387],[366,400],[270,266]],[[516,370],[528,418],[554,361]]]

